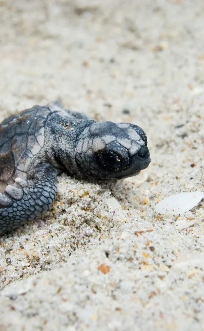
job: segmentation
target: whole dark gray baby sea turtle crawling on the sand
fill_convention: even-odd
[[[142,129],[95,122],[58,102],[0,124],[0,235],[41,217],[62,172],[86,179],[135,176],[150,163]]]

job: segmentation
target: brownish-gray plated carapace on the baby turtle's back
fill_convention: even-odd
[[[49,107],[34,106],[0,123],[0,192],[19,174],[26,179],[34,155],[44,146],[50,112]]]

